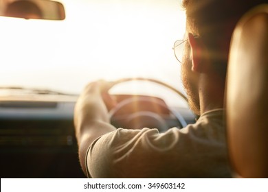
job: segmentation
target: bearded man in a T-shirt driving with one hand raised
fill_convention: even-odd
[[[116,130],[109,123],[103,82],[78,99],[74,123],[83,171],[93,178],[229,178],[223,97],[230,39],[238,19],[258,1],[185,0],[183,85],[193,125],[163,134],[155,129]],[[104,98],[104,100],[102,99]]]

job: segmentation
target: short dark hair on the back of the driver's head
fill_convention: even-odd
[[[182,7],[186,10],[186,29],[203,38],[213,64],[220,68],[217,70],[224,77],[230,40],[236,23],[248,10],[262,3],[268,3],[268,0],[181,1]]]

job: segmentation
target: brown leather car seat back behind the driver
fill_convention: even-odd
[[[235,177],[268,178],[268,4],[247,12],[230,45],[227,146]]]

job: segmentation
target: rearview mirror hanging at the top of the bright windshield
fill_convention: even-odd
[[[0,16],[23,19],[65,19],[62,3],[50,0],[0,0]]]

